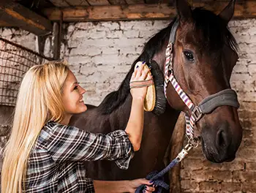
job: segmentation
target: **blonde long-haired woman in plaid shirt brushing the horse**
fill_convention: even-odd
[[[131,81],[151,76],[141,66]],[[83,161],[115,160],[127,168],[140,148],[146,87],[132,88],[132,109],[125,131],[108,135],[67,126],[75,113],[87,109],[85,90],[60,61],[31,67],[20,85],[10,140],[4,152],[1,192],[154,192],[146,179],[93,181]],[[117,139],[118,138],[118,139]]]

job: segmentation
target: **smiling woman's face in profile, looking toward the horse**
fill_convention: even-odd
[[[67,115],[70,117],[76,113],[83,113],[87,110],[83,102],[85,89],[79,86],[75,75],[69,70],[67,79],[63,86],[63,102]]]

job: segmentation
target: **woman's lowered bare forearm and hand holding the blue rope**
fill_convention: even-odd
[[[137,187],[142,184],[148,185],[145,189],[146,192],[154,192],[155,189],[152,187],[152,183],[143,178],[133,181],[94,181],[94,190],[95,193],[134,193]]]

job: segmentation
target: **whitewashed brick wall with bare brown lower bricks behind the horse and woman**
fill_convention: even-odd
[[[116,90],[130,64],[140,55],[143,45],[169,22],[126,21],[69,23],[61,45],[61,57],[67,59],[86,88],[84,100],[92,105]],[[230,29],[239,44],[239,61],[233,70],[231,85],[241,103],[239,116],[244,139],[235,161],[213,164],[197,148],[181,164],[181,188],[184,192],[256,192],[256,20],[233,20]],[[26,31],[1,29],[1,35],[37,50],[35,37]],[[51,56],[51,39],[45,54]]]

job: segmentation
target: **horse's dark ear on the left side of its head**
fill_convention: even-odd
[[[192,10],[186,0],[175,0],[176,11],[180,20],[192,17]]]

